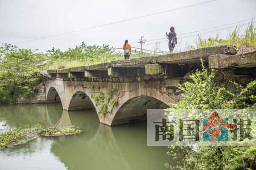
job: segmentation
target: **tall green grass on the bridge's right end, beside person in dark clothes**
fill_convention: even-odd
[[[219,34],[213,38],[203,38],[201,35],[198,35],[197,48],[212,47],[216,45],[234,45],[237,48],[256,47],[256,26],[253,22],[250,22],[245,31],[242,31],[241,28],[236,26],[226,38],[220,38]]]

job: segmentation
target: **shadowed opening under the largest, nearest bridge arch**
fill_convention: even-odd
[[[147,109],[165,109],[168,105],[150,96],[129,99],[116,112],[111,125],[143,122],[147,119]]]

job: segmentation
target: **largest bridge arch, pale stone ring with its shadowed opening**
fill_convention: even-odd
[[[155,89],[137,89],[119,99],[119,105],[112,111],[111,125],[140,122],[146,119],[147,109],[164,109],[175,103],[167,94]]]

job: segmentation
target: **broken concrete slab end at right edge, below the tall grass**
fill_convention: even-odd
[[[256,67],[256,51],[236,55],[211,55],[209,68]]]

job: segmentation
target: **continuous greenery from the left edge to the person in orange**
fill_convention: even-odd
[[[149,54],[136,53],[133,56],[144,57]],[[81,65],[91,65],[101,62],[123,59],[122,53],[115,53],[109,45],[86,45],[82,42],[67,51],[52,48],[47,53],[37,50],[21,49],[15,45],[0,46],[0,103],[15,104],[17,98],[32,97],[37,93],[36,86],[41,78],[35,73],[41,69],[70,68]],[[46,61],[45,65],[40,65]]]

